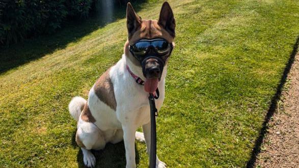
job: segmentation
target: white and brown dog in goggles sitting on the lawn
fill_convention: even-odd
[[[74,97],[69,112],[77,121],[76,143],[84,164],[95,165],[91,149],[124,141],[126,167],[136,167],[135,139],[145,142],[150,152],[149,93],[155,95],[157,110],[165,98],[167,65],[174,47],[175,19],[165,2],[158,20],[144,20],[127,4],[128,39],[122,58],[94,83],[88,100]],[[137,132],[141,127],[142,132]],[[156,167],[166,164],[156,157]]]

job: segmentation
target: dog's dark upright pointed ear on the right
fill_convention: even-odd
[[[158,24],[160,24],[172,37],[175,37],[175,19],[168,2],[163,3]]]

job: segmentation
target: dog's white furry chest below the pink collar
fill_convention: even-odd
[[[117,118],[121,123],[132,123],[141,126],[150,122],[149,94],[144,91],[144,86],[139,85],[125,68],[122,60],[114,66],[110,72],[114,84],[115,98],[117,102]],[[165,97],[165,81],[158,84],[160,97],[155,100],[159,110]]]

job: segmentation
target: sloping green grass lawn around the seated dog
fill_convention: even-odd
[[[157,153],[169,167],[244,167],[299,34],[298,1],[170,0],[177,23]],[[133,4],[157,19],[162,1]],[[125,9],[0,48],[0,167],[83,165],[67,106],[121,58]],[[139,167],[145,144],[135,143]],[[95,152],[124,167],[124,144]]]

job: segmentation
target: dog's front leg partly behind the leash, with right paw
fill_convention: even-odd
[[[146,151],[148,156],[150,156],[150,149],[151,149],[151,123],[144,124],[142,126],[142,130],[144,133],[145,143],[146,143]],[[156,156],[156,167],[164,168],[166,164],[159,160],[158,156]]]

